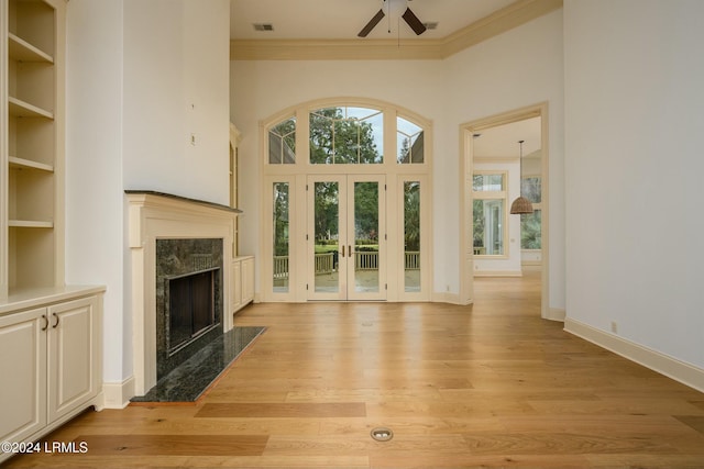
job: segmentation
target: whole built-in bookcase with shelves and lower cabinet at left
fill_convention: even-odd
[[[66,1],[0,0],[0,356],[12,357],[0,439],[12,443],[102,405],[105,288],[64,282]]]

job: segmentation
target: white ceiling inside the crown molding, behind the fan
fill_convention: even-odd
[[[230,1],[230,38],[233,40],[353,40],[383,4],[383,0]],[[437,22],[437,30],[416,36],[403,20],[399,25],[400,13],[393,13],[391,21],[388,15],[385,16],[366,38],[438,40],[515,1],[408,0],[408,7],[416,16],[424,23]],[[255,31],[253,23],[271,23],[274,31]]]

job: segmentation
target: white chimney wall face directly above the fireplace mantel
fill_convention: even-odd
[[[229,203],[229,14],[227,0],[124,1],[127,189]]]

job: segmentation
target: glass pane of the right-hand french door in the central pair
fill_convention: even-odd
[[[378,182],[355,182],[354,291],[378,289]]]

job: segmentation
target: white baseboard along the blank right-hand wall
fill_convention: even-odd
[[[676,358],[661,354],[627,340],[623,337],[597,330],[570,317],[564,321],[564,331],[585,340],[598,345],[614,354],[628,358],[646,368],[650,368],[675,381],[704,392],[704,369],[680,361]]]

